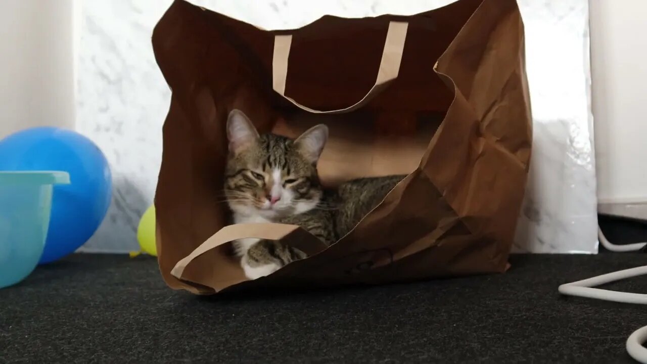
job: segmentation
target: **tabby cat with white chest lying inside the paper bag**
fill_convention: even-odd
[[[299,225],[327,245],[351,231],[404,177],[354,179],[324,189],[316,169],[328,138],[323,124],[294,140],[259,135],[247,116],[234,110],[227,120],[227,137],[225,197],[234,223]],[[237,240],[234,250],[249,279],[306,257],[280,242],[256,238]]]

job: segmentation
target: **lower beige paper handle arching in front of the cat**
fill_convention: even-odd
[[[197,258],[200,255],[203,255],[207,251],[214,249],[220,245],[226,244],[228,242],[233,242],[234,240],[244,239],[244,238],[258,238],[264,240],[281,240],[290,234],[300,234],[300,236],[294,236],[294,241],[299,243],[303,240],[313,240],[312,236],[307,231],[301,229],[297,225],[287,225],[283,223],[239,223],[236,225],[227,225],[220,229],[217,233],[213,234],[208,238],[203,244],[195,248],[190,255],[182,258],[175,267],[171,269],[171,275],[175,276],[177,279],[182,278],[182,273],[184,269],[188,266],[191,261]],[[308,237],[310,239],[308,239]],[[314,240],[317,240],[314,238]],[[302,244],[297,244],[295,246],[308,255],[314,255],[317,251],[325,249],[326,245],[321,242],[319,247],[316,249],[308,249],[309,247],[304,247]]]

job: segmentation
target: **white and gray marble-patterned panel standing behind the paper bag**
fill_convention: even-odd
[[[450,0],[193,0],[259,27],[305,25],[323,14],[415,14]],[[76,126],[104,150],[113,203],[82,251],[137,250],[138,219],[153,201],[170,90],[151,30],[171,0],[81,0]],[[597,251],[587,0],[520,0],[534,115],[531,182],[515,249]]]

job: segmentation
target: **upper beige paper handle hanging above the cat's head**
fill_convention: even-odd
[[[389,30],[386,32],[384,41],[384,51],[382,51],[382,61],[377,73],[375,85],[371,87],[366,96],[359,100],[355,105],[344,109],[331,111],[320,111],[308,108],[296,102],[293,98],[285,96],[285,82],[287,79],[288,58],[290,56],[290,45],[292,44],[291,35],[274,36],[274,56],[272,58],[272,87],[279,95],[286,98],[292,104],[299,108],[318,114],[346,113],[361,108],[369,102],[382,89],[395,80],[400,71],[400,62],[402,61],[402,51],[404,50],[404,41],[409,23],[402,21],[389,22]]]

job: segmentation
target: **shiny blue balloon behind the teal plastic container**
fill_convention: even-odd
[[[105,155],[90,139],[61,128],[30,128],[0,141],[0,170],[61,170],[70,185],[54,186],[40,263],[73,253],[104,220],[112,196]]]

